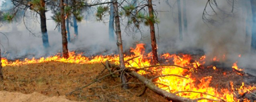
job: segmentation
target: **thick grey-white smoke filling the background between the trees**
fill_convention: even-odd
[[[181,4],[184,0],[181,0]],[[226,0],[216,0],[219,8],[226,13],[232,11],[232,6],[228,5]],[[244,4],[238,0],[233,13],[228,15],[223,14],[223,11],[217,10],[217,16],[210,16],[209,19],[217,20],[214,26],[205,23],[202,20],[202,13],[204,11],[207,0],[186,0],[187,2],[187,21],[188,21],[188,35],[183,35],[184,40],[180,41],[178,28],[178,9],[176,0],[154,0],[155,9],[158,11],[158,19],[160,23],[156,25],[156,36],[159,38],[158,53],[175,53],[180,50],[202,49],[206,56],[212,58],[217,56],[222,58],[225,55],[228,63],[238,61],[241,67],[252,67],[256,57],[249,55],[250,51],[250,36],[246,37],[246,9]],[[242,0],[244,1],[244,0]],[[170,4],[170,5],[168,5]],[[171,6],[171,7],[170,7]],[[182,10],[183,10],[182,6]],[[214,12],[208,6],[206,9],[208,13]],[[250,12],[250,11],[249,11]],[[92,13],[93,15],[95,14]],[[182,12],[183,14],[183,12]],[[47,19],[51,19],[52,14],[47,12]],[[108,21],[108,16],[104,18]],[[32,20],[32,18],[25,18],[25,24],[29,27],[36,36],[40,36],[39,21]],[[124,23],[124,22],[123,22]],[[183,22],[182,22],[183,23]],[[17,27],[17,28],[16,28]],[[57,53],[62,51],[61,34],[58,29],[54,30],[56,23],[53,20],[47,20],[47,29],[49,35],[49,42],[51,46],[50,53]],[[122,28],[124,26],[122,25]],[[2,54],[10,59],[21,57],[24,55],[35,55],[37,57],[44,56],[42,49],[42,38],[34,37],[24,27],[23,21],[18,21],[13,24],[6,24],[0,27],[1,32],[5,32],[9,39],[9,44],[4,37],[0,35],[0,40],[4,48]],[[140,41],[148,44],[150,49],[150,33],[149,27],[142,27],[142,35],[144,36],[140,41],[140,33],[131,33],[122,29],[122,39],[124,39],[124,48],[129,49],[135,41]],[[124,33],[126,32],[126,33]],[[70,27],[71,39],[74,37],[74,29]],[[78,41],[76,43],[69,43],[68,47],[71,50],[75,49],[89,49],[89,55],[96,52],[104,51],[105,49],[116,49],[116,43],[108,40],[108,22],[99,22],[96,18],[90,20],[83,20],[78,23]],[[135,35],[137,39],[134,39]],[[11,54],[7,55],[6,53]],[[238,55],[242,54],[242,58]],[[253,63],[253,64],[252,64]]]

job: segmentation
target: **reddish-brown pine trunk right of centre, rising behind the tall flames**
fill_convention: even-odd
[[[152,19],[155,18],[154,17],[154,9],[152,6],[152,0],[148,0],[148,13],[149,13],[150,18],[152,18]],[[151,20],[149,20],[149,25],[150,25],[150,37],[151,37],[153,64],[156,64],[156,63],[158,63],[158,56],[157,56],[155,26]]]

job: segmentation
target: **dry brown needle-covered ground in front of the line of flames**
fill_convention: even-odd
[[[46,96],[63,96],[68,92],[92,82],[104,69],[100,63],[73,64],[47,62],[22,66],[4,67],[3,82],[0,90],[31,94],[39,92]],[[131,85],[130,90],[116,86],[119,78],[107,77],[87,88],[67,96],[69,100],[89,102],[167,102],[161,96],[147,90],[142,97],[143,85]],[[113,86],[116,86],[112,88]]]

